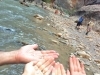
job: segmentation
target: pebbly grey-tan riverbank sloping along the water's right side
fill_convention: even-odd
[[[76,49],[73,54],[84,62],[86,69],[92,71],[94,75],[100,74],[100,35],[93,30],[89,35],[85,35],[85,25],[79,31],[76,30],[75,21],[78,16],[64,17],[50,12],[49,19],[54,23],[51,26],[59,30],[59,33],[55,33],[56,36],[60,36],[66,45]]]

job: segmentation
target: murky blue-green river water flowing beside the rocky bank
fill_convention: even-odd
[[[58,31],[48,26],[45,20],[36,22],[33,19],[34,14],[45,17],[48,11],[31,5],[25,7],[14,0],[0,1],[0,49],[2,51],[19,49],[22,46],[19,41],[28,44],[37,43],[41,49],[54,49],[59,52],[57,61],[68,67],[68,57],[73,49],[63,43],[53,43],[52,39],[62,40],[52,34]],[[23,65],[20,64],[0,66],[0,75],[21,75],[22,71]]]

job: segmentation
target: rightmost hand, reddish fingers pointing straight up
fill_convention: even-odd
[[[70,57],[70,75],[86,75],[84,65],[79,60],[72,56]]]

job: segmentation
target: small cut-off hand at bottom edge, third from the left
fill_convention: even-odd
[[[52,75],[66,75],[64,66],[60,64],[59,62],[55,63],[52,69]]]

